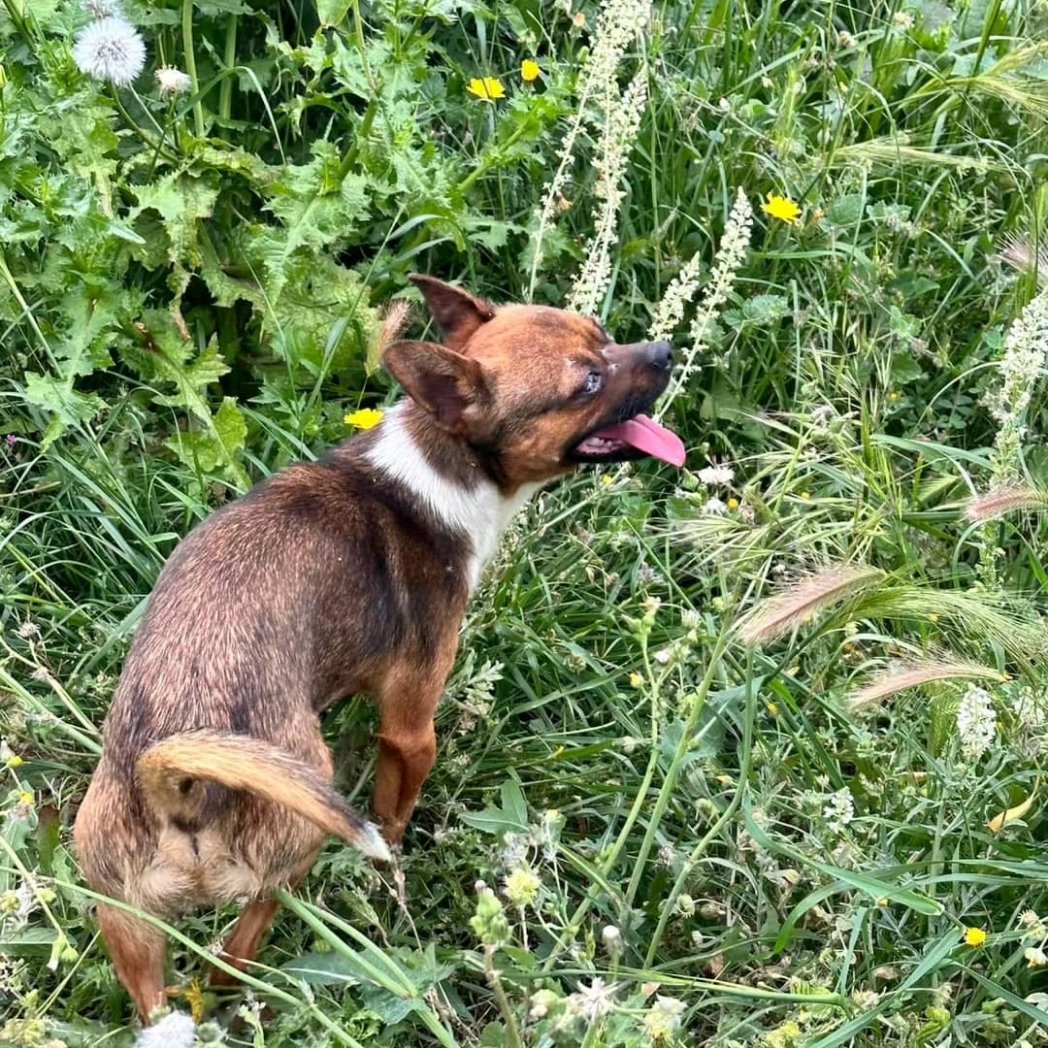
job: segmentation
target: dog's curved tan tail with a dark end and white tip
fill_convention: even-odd
[[[390,859],[373,823],[299,758],[261,739],[208,729],[182,732],[150,746],[135,771],[147,802],[169,816],[192,821],[203,803],[196,781],[220,783],[283,805],[371,858]]]

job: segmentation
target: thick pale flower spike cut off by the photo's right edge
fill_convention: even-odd
[[[1001,386],[988,398],[1000,429],[994,441],[995,480],[1014,480],[1022,472],[1021,447],[1026,409],[1048,358],[1048,287],[1016,318],[1004,343]]]

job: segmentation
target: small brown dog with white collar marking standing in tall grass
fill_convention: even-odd
[[[683,462],[680,440],[639,414],[669,380],[668,343],[618,346],[586,316],[413,280],[444,344],[391,345],[386,367],[409,399],[175,550],[77,817],[97,892],[165,918],[253,900],[224,944],[240,968],[272,892],[306,874],[326,835],[389,857],[329,785],[321,712],[376,699],[374,811],[398,844],[433,766],[466,602],[510,518],[581,462]],[[166,1003],[165,937],[115,907],[99,922],[148,1022]]]

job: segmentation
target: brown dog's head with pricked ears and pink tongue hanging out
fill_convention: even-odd
[[[395,342],[386,367],[437,425],[496,462],[507,486],[584,462],[683,464],[680,439],[646,414],[670,380],[669,343],[620,346],[590,316],[494,306],[432,277],[412,280],[444,341]]]

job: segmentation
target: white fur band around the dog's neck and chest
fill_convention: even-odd
[[[400,411],[394,408],[383,420],[368,460],[403,484],[447,528],[462,533],[470,545],[466,572],[472,593],[499,548],[502,532],[542,485],[522,484],[507,499],[486,477],[478,477],[473,487],[456,484],[427,462]]]

